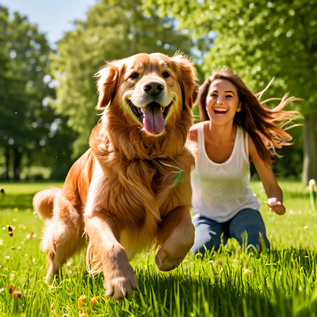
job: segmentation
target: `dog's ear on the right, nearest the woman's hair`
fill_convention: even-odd
[[[198,85],[196,84],[196,69],[189,58],[183,54],[176,53],[171,58],[174,69],[182,89],[183,104],[191,108],[197,98]]]

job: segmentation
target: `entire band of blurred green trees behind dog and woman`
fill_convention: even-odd
[[[288,107],[303,126],[289,131],[294,145],[278,151],[275,172],[317,179],[317,0],[103,0],[75,25],[54,51],[25,17],[0,7],[3,179],[63,179],[98,122],[93,76],[104,61],[177,50],[191,56],[199,84],[227,66],[254,92],[275,77],[262,100],[303,98]]]

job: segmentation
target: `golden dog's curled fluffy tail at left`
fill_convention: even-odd
[[[39,191],[33,197],[33,208],[40,218],[51,219],[53,217],[54,199],[61,188],[51,187]]]

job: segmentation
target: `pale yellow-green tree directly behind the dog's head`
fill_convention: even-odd
[[[140,52],[190,52],[191,40],[174,30],[170,18],[145,15],[140,4],[140,0],[104,0],[58,42],[53,69],[60,85],[55,107],[69,117],[68,125],[79,134],[73,144],[74,157],[88,148],[89,134],[98,121],[94,74],[105,60]]]

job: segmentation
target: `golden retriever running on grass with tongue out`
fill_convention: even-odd
[[[89,149],[63,188],[38,192],[33,206],[48,219],[46,281],[87,238],[88,273],[103,271],[106,296],[120,300],[138,289],[129,263],[136,253],[158,250],[155,262],[168,271],[194,243],[190,173],[196,149],[188,136],[197,84],[181,54],[133,55],[108,62],[96,76],[103,114]]]

